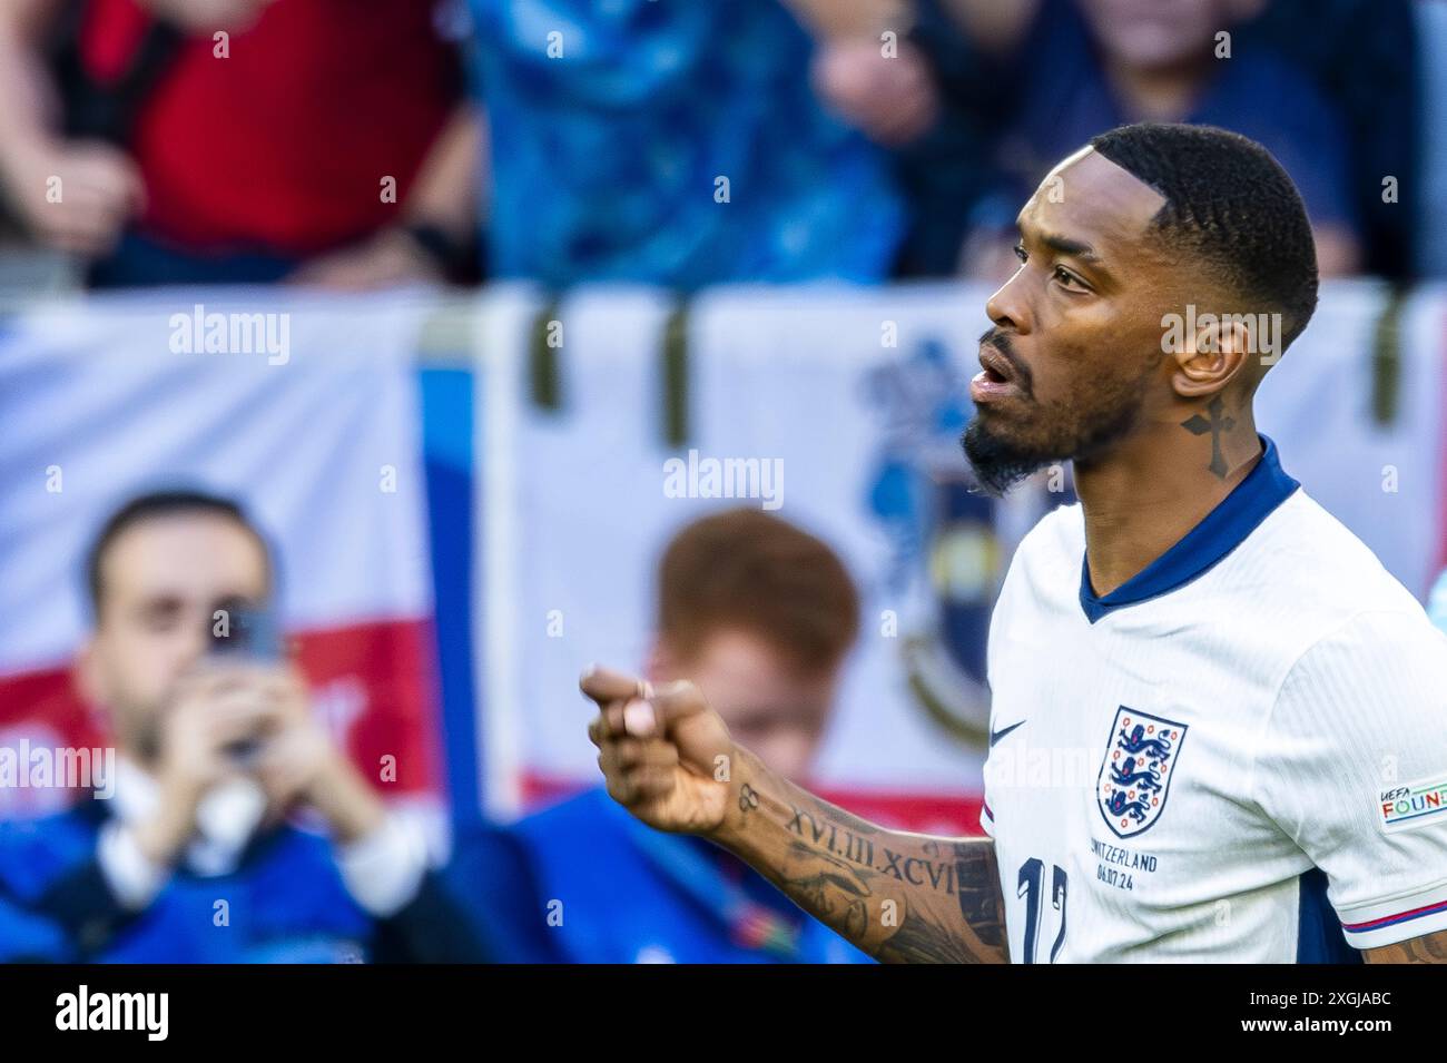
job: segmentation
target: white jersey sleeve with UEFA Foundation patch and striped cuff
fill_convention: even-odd
[[[1252,794],[1327,875],[1357,949],[1447,930],[1447,636],[1362,613],[1288,673]]]

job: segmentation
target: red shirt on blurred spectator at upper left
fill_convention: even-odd
[[[308,255],[396,220],[456,100],[433,0],[276,0],[216,58],[188,39],[136,116],[142,230],[190,250]],[[81,52],[104,84],[149,16],[90,0]],[[396,202],[382,178],[396,178]]]

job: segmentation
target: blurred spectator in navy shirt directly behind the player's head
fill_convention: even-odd
[[[965,233],[967,273],[1013,272],[1016,211],[1049,168],[1091,136],[1145,120],[1223,126],[1266,145],[1307,201],[1323,273],[1362,266],[1363,198],[1351,187],[1349,124],[1305,62],[1269,46],[1266,30],[1244,29],[1266,0],[916,3],[916,55],[946,97],[939,123],[920,140],[952,132],[962,178],[955,204],[935,194],[920,208]],[[875,94],[841,85],[826,94],[880,136],[887,114]],[[938,127],[951,124],[958,129]],[[959,159],[981,145],[990,146],[984,165]],[[913,162],[939,166],[949,153],[926,150]],[[912,185],[933,187],[928,178]],[[1379,179],[1375,187],[1379,194]],[[932,263],[941,265],[938,246]]]

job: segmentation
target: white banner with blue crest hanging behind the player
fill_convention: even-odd
[[[553,325],[559,406],[540,408],[528,359],[541,302],[493,295],[479,390],[493,808],[598,778],[573,677],[592,661],[641,667],[658,551],[731,505],[819,534],[864,592],[861,642],[813,782],[915,823],[951,820],[978,797],[988,610],[1014,544],[1066,498],[1046,476],[1003,503],[965,489],[958,437],[987,295],[708,292],[689,314],[680,443],[666,417],[671,302],[637,289],[567,299]],[[1443,301],[1424,296],[1402,315],[1398,404],[1378,424],[1382,307],[1373,285],[1327,286],[1317,321],[1272,370],[1257,424],[1286,470],[1425,596],[1441,550]],[[751,498],[718,498],[729,469],[752,470]]]

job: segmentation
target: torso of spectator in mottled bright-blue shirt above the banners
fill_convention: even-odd
[[[815,97],[800,22],[874,35],[891,4],[472,7],[493,273],[680,288],[888,275],[903,229],[888,159]]]

